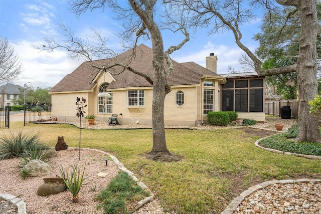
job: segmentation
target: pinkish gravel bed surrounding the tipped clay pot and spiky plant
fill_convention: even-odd
[[[57,151],[57,156],[49,162],[52,171],[49,175],[39,177],[27,177],[22,179],[17,166],[17,159],[7,159],[0,161],[0,193],[9,193],[17,195],[20,199],[27,203],[27,213],[101,213],[96,209],[98,202],[93,198],[104,189],[110,180],[116,176],[119,169],[113,161],[108,161],[106,166],[103,159],[108,158],[104,153],[93,150],[81,150],[79,161],[79,150],[67,149]],[[72,194],[70,191],[60,192],[49,196],[37,195],[38,187],[44,183],[45,177],[60,176],[58,166],[71,171],[71,165],[79,161],[79,165],[83,168],[86,165],[85,175],[87,178],[78,194],[78,202],[72,202]],[[98,177],[99,172],[107,172],[106,177]]]

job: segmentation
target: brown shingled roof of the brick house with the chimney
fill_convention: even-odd
[[[113,65],[117,61],[148,75],[153,80],[154,74],[152,60],[152,49],[141,44],[135,48],[135,56],[133,56],[133,49],[130,49],[122,54],[119,54],[116,58],[82,63],[76,70],[63,78],[49,92],[90,90],[95,85],[95,77],[99,75],[99,69],[93,68],[92,64],[95,64],[99,67],[107,67],[109,65]],[[224,77],[200,65],[197,65],[196,63],[178,63],[174,60],[172,61],[175,70],[168,77],[168,82],[172,86],[200,84],[200,80],[204,75],[217,76],[224,79]],[[166,60],[164,60],[164,67],[165,69],[168,68]],[[145,78],[134,74],[129,70],[123,71],[121,66],[115,66],[111,69],[108,69],[108,72],[110,72],[115,79],[115,81],[108,85],[108,89],[151,87],[150,83]]]

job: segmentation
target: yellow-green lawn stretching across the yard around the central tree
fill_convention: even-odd
[[[22,126],[12,122],[10,130]],[[72,125],[31,124],[24,131],[40,132],[49,146],[55,146],[58,136],[64,136],[69,147],[79,145],[79,128]],[[242,191],[266,180],[321,178],[321,161],[265,151],[254,145],[260,137],[240,129],[169,129],[166,137],[169,150],[183,157],[181,161],[145,158],[152,146],[150,129],[82,129],[81,146],[116,156],[167,211],[176,213],[220,213]]]

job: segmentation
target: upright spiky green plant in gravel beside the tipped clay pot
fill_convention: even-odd
[[[84,181],[84,173],[85,173],[86,164],[81,172],[80,166],[78,163],[72,166],[71,173],[69,175],[68,171],[66,171],[63,166],[59,166],[59,172],[62,179],[65,182],[66,187],[72,193],[72,202],[77,202],[78,193],[80,191],[80,187]]]

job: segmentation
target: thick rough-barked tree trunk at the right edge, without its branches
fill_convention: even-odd
[[[316,36],[317,11],[315,0],[298,1],[301,20],[301,37],[297,59],[297,85],[299,92],[299,132],[295,141],[320,142],[317,118],[309,114],[308,101],[317,94]]]

